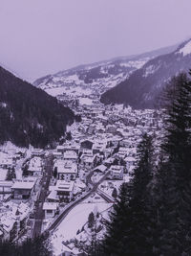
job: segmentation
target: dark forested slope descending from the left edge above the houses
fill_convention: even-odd
[[[70,108],[0,67],[0,143],[44,147],[57,141],[73,121]]]

